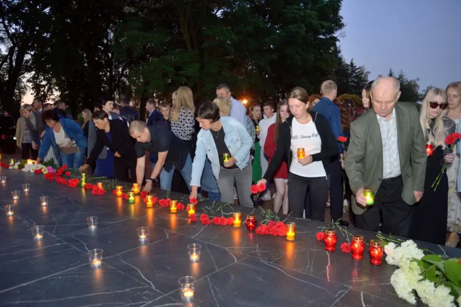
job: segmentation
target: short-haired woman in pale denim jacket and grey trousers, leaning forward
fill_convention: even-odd
[[[200,124],[197,136],[197,149],[192,164],[192,192],[190,198],[197,197],[205,157],[211,162],[221,201],[234,203],[234,183],[240,205],[253,207],[251,199],[252,168],[250,149],[253,141],[247,129],[231,117],[219,116],[219,107],[212,102],[204,102],[195,112]],[[229,159],[224,161],[223,155]]]

